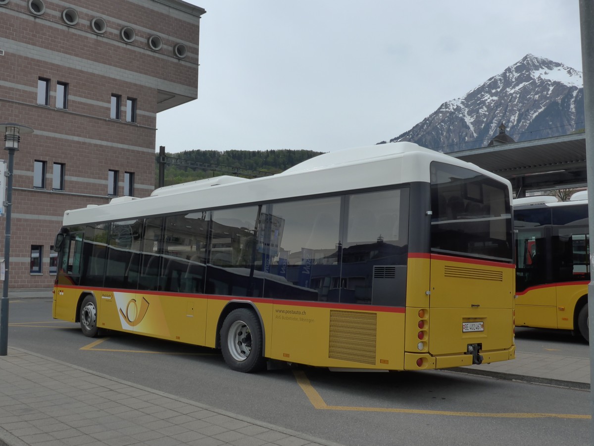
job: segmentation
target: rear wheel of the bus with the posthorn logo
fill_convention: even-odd
[[[236,372],[257,372],[266,365],[260,321],[247,308],[229,313],[220,331],[223,359]]]

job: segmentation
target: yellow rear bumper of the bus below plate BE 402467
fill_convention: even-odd
[[[516,357],[516,346],[505,350],[481,351],[482,363],[507,361]],[[405,353],[405,370],[448,369],[472,365],[472,354],[431,356],[426,353]]]

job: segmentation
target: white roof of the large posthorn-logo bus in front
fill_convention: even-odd
[[[162,187],[149,197],[66,211],[64,225],[249,205],[413,181],[428,183],[432,161],[473,169],[507,184],[511,194],[511,184],[504,178],[443,153],[399,142],[324,153],[270,177],[215,177]]]

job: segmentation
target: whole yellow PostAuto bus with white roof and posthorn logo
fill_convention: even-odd
[[[394,143],[64,213],[53,317],[268,360],[425,370],[514,357],[511,185]]]

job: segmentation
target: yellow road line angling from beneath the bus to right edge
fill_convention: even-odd
[[[324,410],[351,410],[360,412],[391,412],[391,413],[415,413],[424,415],[446,415],[446,416],[465,416],[465,417],[492,417],[492,418],[568,418],[589,420],[590,415],[579,415],[571,413],[483,413],[483,412],[456,412],[450,410],[419,410],[419,409],[391,409],[384,407],[352,407],[352,406],[328,406],[320,394],[309,382],[305,373],[301,370],[293,371],[299,387],[307,395],[309,402],[315,409]]]

